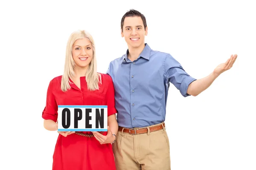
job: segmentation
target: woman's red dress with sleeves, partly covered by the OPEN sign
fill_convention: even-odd
[[[58,118],[58,105],[108,105],[108,116],[116,113],[114,87],[107,74],[102,75],[99,90],[88,91],[85,77],[80,77],[81,90],[74,84],[67,92],[61,91],[61,77],[49,83],[43,119]],[[83,132],[92,134],[92,132]],[[107,135],[104,132],[103,135]],[[116,170],[111,144],[100,144],[95,137],[77,134],[58,135],[53,153],[52,170]]]

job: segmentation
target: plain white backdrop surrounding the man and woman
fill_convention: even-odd
[[[43,127],[49,81],[62,74],[68,37],[96,42],[105,73],[127,45],[120,21],[131,8],[146,17],[145,42],[170,53],[197,79],[231,54],[233,68],[199,96],[170,86],[166,125],[172,170],[256,170],[255,5],[249,0],[1,1],[1,170],[50,170],[57,132]]]

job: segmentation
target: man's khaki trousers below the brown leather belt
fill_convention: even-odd
[[[116,170],[171,170],[169,139],[164,128],[137,135],[118,131],[113,153]]]

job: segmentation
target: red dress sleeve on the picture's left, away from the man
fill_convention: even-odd
[[[55,100],[55,96],[52,93],[52,83],[53,80],[50,81],[48,89],[47,89],[47,97],[46,97],[46,106],[42,113],[43,119],[51,119],[54,122],[57,122],[58,119],[58,105]]]

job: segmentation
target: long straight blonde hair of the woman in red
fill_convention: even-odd
[[[74,31],[67,42],[66,48],[66,58],[65,58],[65,65],[64,65],[64,73],[61,79],[61,90],[67,91],[70,89],[70,78],[75,76],[74,67],[75,61],[72,57],[72,49],[73,44],[76,40],[88,38],[88,40],[92,43],[93,47],[93,58],[89,63],[89,67],[86,71],[85,79],[87,82],[87,88],[90,91],[99,90],[99,82],[101,83],[101,75],[97,73],[97,62],[95,56],[95,43],[93,37],[87,31]]]

